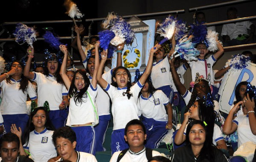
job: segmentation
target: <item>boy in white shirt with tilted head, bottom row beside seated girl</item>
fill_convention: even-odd
[[[61,156],[57,162],[97,162],[94,155],[75,151],[77,145],[76,133],[70,127],[61,127],[53,132],[53,143]]]

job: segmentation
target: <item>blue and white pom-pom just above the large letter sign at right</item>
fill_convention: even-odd
[[[226,65],[230,65],[233,70],[246,68],[249,64],[250,57],[243,54],[237,54],[232,59],[227,60]]]

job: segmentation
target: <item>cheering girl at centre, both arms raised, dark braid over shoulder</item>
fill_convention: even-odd
[[[115,71],[113,71],[112,85],[102,78],[101,71],[103,70],[106,62],[107,51],[101,53],[101,62],[98,69],[99,72],[97,73],[97,81],[107,91],[110,99],[112,100],[112,115],[114,124],[111,136],[112,154],[116,151],[121,151],[129,147],[124,141],[124,128],[130,120],[138,119],[138,107],[136,104],[138,94],[146,82],[148,75],[150,74],[153,63],[153,54],[160,47],[161,45],[155,45],[156,49],[154,49],[154,47],[151,48],[146,71],[141,76],[140,80],[132,86],[129,70],[122,66],[117,67]],[[95,56],[96,55],[99,55],[97,50]],[[95,62],[99,62],[99,60],[95,59]]]

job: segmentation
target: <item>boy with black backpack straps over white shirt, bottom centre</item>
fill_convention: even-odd
[[[144,147],[147,138],[144,124],[133,119],[124,128],[124,139],[128,142],[129,149],[115,152],[110,162],[147,162],[153,156],[161,156],[157,151]]]

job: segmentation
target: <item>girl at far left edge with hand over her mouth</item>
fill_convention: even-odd
[[[23,69],[24,65],[20,61],[14,61],[10,71],[0,76],[3,93],[1,114],[7,132],[11,131],[12,124],[18,125],[24,131],[29,118],[26,108],[27,94],[30,99],[37,99],[35,89],[23,75]]]

